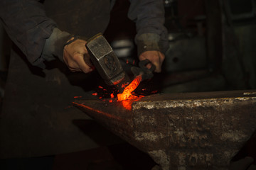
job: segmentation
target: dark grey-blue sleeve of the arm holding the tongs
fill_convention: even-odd
[[[167,30],[164,27],[164,5],[161,0],[130,0],[128,17],[136,22],[135,41],[139,55],[149,50],[166,52]]]

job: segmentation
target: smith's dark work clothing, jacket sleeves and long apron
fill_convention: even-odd
[[[137,23],[137,36],[155,33],[166,42],[161,2],[131,0],[129,18]],[[53,28],[91,37],[105,30],[112,6],[106,0],[0,1],[1,23],[15,43],[0,118],[0,158],[38,157],[120,142],[72,106],[74,96],[93,97],[95,73],[70,73],[58,60],[43,70],[36,67],[47,60],[41,53]]]

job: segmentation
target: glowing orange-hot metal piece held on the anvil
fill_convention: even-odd
[[[124,101],[129,98],[129,96],[132,96],[132,91],[134,91],[137,86],[139,86],[139,83],[142,81],[142,75],[139,75],[135,77],[135,79],[132,81],[129,86],[127,86],[122,94],[117,94],[118,101]]]

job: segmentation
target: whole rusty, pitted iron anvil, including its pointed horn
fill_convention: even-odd
[[[256,91],[156,94],[132,103],[75,101],[161,169],[228,169],[256,130]]]

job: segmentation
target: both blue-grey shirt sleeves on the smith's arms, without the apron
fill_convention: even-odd
[[[111,1],[110,9],[114,6],[115,1]],[[163,2],[161,0],[129,1],[131,5],[128,17],[136,22],[135,42],[139,54],[147,50],[166,52],[168,39],[167,30],[164,28]],[[31,64],[40,67],[43,65],[43,61],[53,59],[51,56],[42,57],[42,53],[46,40],[50,40],[57,25],[55,21],[46,16],[46,11],[40,1],[1,0],[0,19],[6,33],[27,56]],[[63,35],[68,36],[67,33],[63,33]],[[52,35],[52,37],[54,36]],[[51,38],[51,40],[53,39]],[[60,46],[60,48],[63,47]]]

